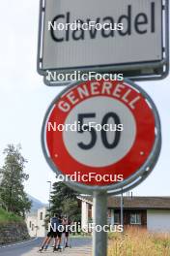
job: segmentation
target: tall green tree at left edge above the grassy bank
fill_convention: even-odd
[[[31,208],[27,194],[24,192],[23,182],[29,176],[24,173],[27,160],[20,153],[21,147],[9,144],[4,150],[5,163],[1,168],[0,199],[3,208],[24,217]]]

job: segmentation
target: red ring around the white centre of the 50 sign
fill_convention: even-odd
[[[101,80],[99,82],[102,82],[102,81],[103,80]],[[86,82],[87,86],[89,86],[91,82],[93,82],[93,81]],[[78,85],[75,85],[75,86],[71,87],[71,89],[67,93],[66,92],[64,93],[65,96],[62,97],[62,100],[64,100],[64,98],[66,97],[66,95],[68,95],[69,92],[76,90],[77,86],[81,86],[84,83],[85,82],[81,82]],[[114,81],[114,82],[112,81],[112,83],[114,85],[116,85],[118,83],[118,81]],[[119,81],[119,83],[121,83],[121,82]],[[142,128],[141,124],[139,124],[139,121],[137,122],[137,136],[136,136],[136,138],[138,138],[138,136],[140,135],[140,137],[142,136],[142,140],[140,139],[142,142],[148,140],[148,141],[150,141],[150,144],[148,144],[147,147],[146,147],[146,144],[143,144],[143,147],[138,148],[138,145],[136,145],[136,144],[140,140],[136,139],[135,144],[131,147],[128,154],[123,159],[121,159],[118,163],[114,164],[113,166],[112,165],[108,166],[106,168],[90,168],[90,167],[87,167],[87,166],[84,166],[84,165],[78,163],[77,161],[75,161],[71,157],[67,148],[65,147],[65,144],[63,143],[62,133],[61,132],[55,132],[55,136],[56,136],[56,133],[58,134],[57,145],[59,146],[59,150],[54,149],[54,152],[52,154],[50,153],[50,158],[52,159],[54,165],[56,165],[57,169],[62,170],[62,174],[72,175],[72,174],[74,174],[74,172],[80,172],[81,174],[88,174],[89,172],[92,172],[92,173],[97,173],[97,174],[100,174],[100,175],[104,175],[104,174],[113,175],[113,173],[114,173],[115,175],[124,174],[124,178],[126,179],[129,176],[133,175],[136,172],[136,170],[138,170],[146,162],[148,156],[150,155],[150,153],[152,151],[153,145],[155,143],[155,116],[154,116],[154,113],[152,112],[150,106],[146,102],[145,98],[143,97],[143,95],[140,92],[136,91],[136,89],[133,88],[127,82],[124,82],[124,84],[126,86],[128,86],[128,89],[130,88],[131,90],[133,90],[133,93],[136,93],[136,95],[140,94],[140,96],[142,97],[142,104],[144,106],[142,106],[143,108],[141,108],[140,111],[138,111],[138,113],[139,112],[142,113],[142,116],[143,116],[144,120],[147,120],[147,119],[152,120],[152,121],[149,122],[149,126],[148,126],[148,127],[150,127],[149,130],[152,130],[151,134],[149,134],[148,128],[147,129]],[[97,96],[93,96],[93,97],[98,97],[98,96],[101,96],[101,95],[97,95]],[[103,96],[103,94],[102,94],[102,96]],[[109,97],[108,95],[105,95],[105,96]],[[113,98],[113,96],[111,98]],[[61,99],[61,97],[57,100],[57,102],[59,102],[60,99]],[[118,100],[118,98],[116,98],[116,99]],[[123,102],[122,100],[120,100],[120,101]],[[56,102],[56,104],[57,104],[57,102]],[[80,102],[78,102],[77,104],[79,104]],[[125,104],[125,102],[123,102],[123,103]],[[76,105],[74,105],[74,106],[76,106]],[[56,112],[55,112],[56,108],[57,107],[55,105],[53,110],[50,112],[50,117],[48,116],[48,121],[52,121],[51,117],[53,117],[53,114],[54,115],[56,114]],[[72,108],[71,108],[71,110],[72,110]],[[128,109],[131,111],[129,106],[128,106]],[[150,113],[146,112],[147,109],[151,110]],[[70,112],[71,112],[71,110],[70,110]],[[70,112],[67,112],[67,115]],[[139,115],[141,113],[139,113]],[[133,114],[136,115],[137,111],[134,110]],[[66,119],[67,115],[65,115],[64,119]],[[59,118],[58,119],[59,123],[64,123],[64,121],[63,121],[64,119]],[[46,137],[48,137],[48,136],[49,136],[49,132],[47,132]],[[49,145],[49,144],[51,144],[50,143],[51,141],[53,141],[53,144],[55,144],[56,139],[53,139],[53,137],[50,137],[50,138],[46,139],[46,146],[47,146],[49,152],[51,152],[51,150],[53,150],[53,149],[51,149],[52,147]],[[61,152],[62,152],[62,154],[61,154]],[[133,152],[135,152],[135,153],[133,153]],[[145,152],[145,153],[141,154],[141,152]],[[62,158],[60,158],[61,155],[62,155]],[[135,159],[139,160],[139,158],[141,159],[141,161],[139,163],[136,163]],[[66,159],[67,159],[67,161],[66,161]],[[130,163],[129,163],[129,159],[130,159]],[[124,167],[121,166],[122,161],[124,161],[124,167],[126,166],[126,169],[124,169],[124,170],[123,170]],[[73,167],[73,169],[71,170],[72,167]],[[131,173],[128,173],[129,170],[132,170]],[[101,183],[99,183],[99,182],[98,183],[97,182],[96,183],[84,182],[84,184],[91,185],[91,186],[92,185],[104,186],[104,185],[109,185],[111,183],[110,182],[101,182]]]

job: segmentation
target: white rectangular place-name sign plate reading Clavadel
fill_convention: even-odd
[[[130,70],[129,74],[131,69],[141,71],[140,75],[133,72],[133,77],[163,73],[160,68],[166,64],[163,25],[167,22],[162,0],[44,0],[41,8],[39,71],[43,75],[47,70],[80,69],[102,72],[121,69]],[[165,11],[166,8],[165,5]],[[76,20],[123,23],[124,29],[49,29],[49,22],[66,24]]]

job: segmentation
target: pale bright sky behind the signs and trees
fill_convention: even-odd
[[[62,87],[48,87],[37,73],[39,1],[6,0],[1,3],[0,39],[0,166],[7,144],[21,144],[30,178],[25,190],[47,203],[55,174],[42,155],[42,119]],[[134,196],[170,196],[170,76],[138,82],[156,103],[162,126],[162,149],[153,173]]]

